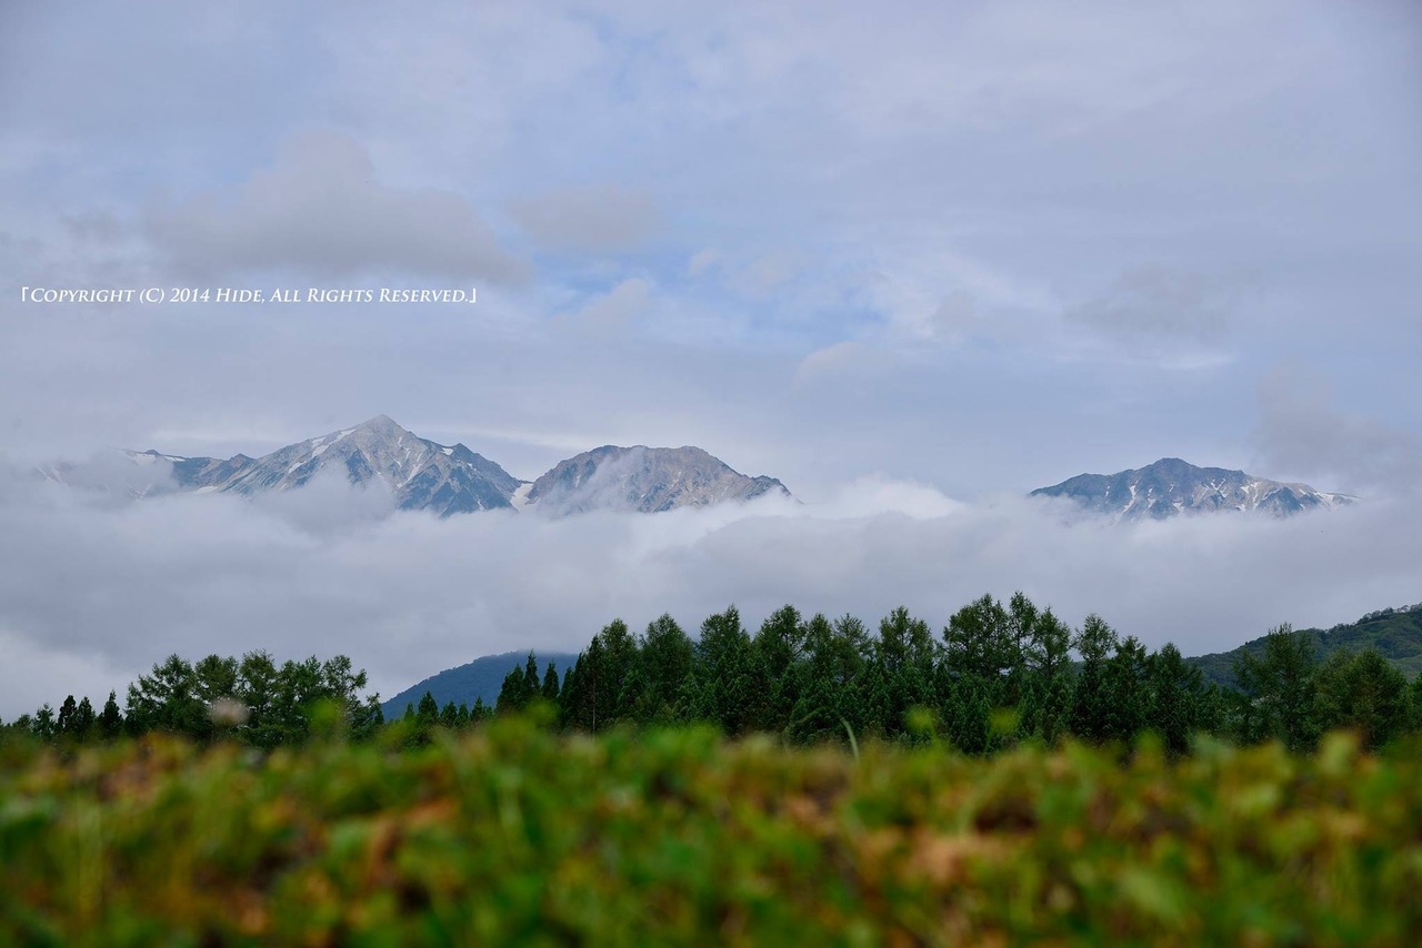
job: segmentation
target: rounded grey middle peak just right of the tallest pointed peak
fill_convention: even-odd
[[[533,482],[526,503],[553,515],[660,513],[766,493],[791,496],[775,478],[748,478],[700,448],[604,445],[559,462]]]

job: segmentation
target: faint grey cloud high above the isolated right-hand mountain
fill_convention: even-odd
[[[1230,330],[1237,286],[1160,264],[1128,267],[1066,318],[1128,345],[1214,344]]]

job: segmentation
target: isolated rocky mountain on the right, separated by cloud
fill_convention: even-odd
[[[1118,520],[1163,520],[1210,510],[1258,510],[1287,517],[1357,499],[1243,470],[1196,468],[1179,458],[1162,458],[1153,465],[1113,475],[1078,475],[1051,488],[1038,488],[1032,496],[1068,497],[1086,510]]]

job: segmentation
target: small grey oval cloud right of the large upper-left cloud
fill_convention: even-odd
[[[563,188],[513,202],[513,219],[555,250],[633,250],[657,229],[660,215],[644,192],[617,185]]]

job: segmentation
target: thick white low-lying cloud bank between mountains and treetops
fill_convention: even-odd
[[[694,632],[731,603],[752,627],[792,603],[869,623],[903,604],[941,628],[984,591],[1021,588],[1072,624],[1098,611],[1199,654],[1422,598],[1419,527],[1416,506],[1386,499],[1111,526],[887,479],[816,505],[437,520],[338,482],[114,506],[16,478],[0,483],[0,715],[122,695],[173,651],[344,652],[391,695],[489,652],[580,648],[613,617],[640,628],[670,611]]]

